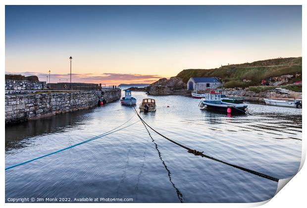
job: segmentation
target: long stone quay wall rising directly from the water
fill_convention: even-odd
[[[97,106],[100,99],[109,103],[119,98],[120,95],[113,91],[102,92],[101,90],[7,94],[5,95],[5,124],[87,109]]]

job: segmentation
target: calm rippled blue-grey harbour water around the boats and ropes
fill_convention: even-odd
[[[147,95],[133,92],[139,104]],[[167,137],[192,149],[277,178],[298,171],[302,110],[249,104],[253,116],[201,110],[200,100],[150,96],[157,110],[141,113]],[[169,107],[167,107],[169,105]],[[137,105],[138,106],[138,105]],[[5,166],[51,153],[126,122],[134,110],[119,101],[5,128]],[[138,121],[134,116],[128,123]],[[5,171],[7,198],[132,198],[133,202],[259,202],[273,182],[194,156],[141,122],[58,154]]]

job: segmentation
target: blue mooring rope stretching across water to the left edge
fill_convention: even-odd
[[[130,125],[128,125],[128,126],[125,126],[125,127],[123,127],[123,128],[120,128],[120,129],[117,129],[117,128],[119,128],[119,127],[125,125],[126,123],[128,123],[128,121],[130,121],[135,115],[136,115],[136,114],[134,114],[129,120],[127,120],[125,123],[121,124],[120,126],[117,126],[116,128],[114,128],[114,129],[112,129],[112,130],[110,130],[110,131],[107,131],[107,132],[105,132],[105,133],[103,133],[103,134],[101,134],[101,135],[99,135],[99,136],[93,137],[93,138],[91,138],[91,139],[85,140],[85,141],[83,141],[83,142],[80,142],[80,143],[78,143],[78,144],[75,144],[75,145],[72,145],[72,146],[69,146],[69,147],[66,147],[66,148],[63,148],[63,149],[60,149],[60,150],[58,150],[58,151],[49,153],[49,154],[47,154],[47,155],[35,157],[35,158],[33,158],[33,159],[29,159],[29,160],[27,160],[27,161],[20,162],[20,163],[18,163],[18,164],[14,164],[14,165],[5,167],[5,170],[8,170],[8,169],[10,169],[10,168],[13,168],[13,167],[16,167],[16,166],[19,166],[19,165],[26,164],[26,163],[28,163],[28,162],[32,162],[32,161],[34,161],[34,160],[37,160],[37,159],[40,159],[40,158],[43,158],[43,157],[46,157],[46,156],[51,156],[51,155],[53,155],[53,154],[55,154],[55,153],[59,153],[59,152],[62,152],[62,151],[64,151],[64,150],[68,150],[68,149],[73,148],[73,147],[76,147],[76,146],[78,146],[78,145],[82,145],[82,144],[87,143],[87,142],[90,142],[90,141],[92,141],[92,140],[96,140],[96,139],[99,139],[99,138],[104,137],[104,136],[106,136],[106,135],[109,135],[109,134],[115,133],[115,132],[117,132],[117,131],[120,131],[120,130],[122,130],[122,129],[125,129],[125,128],[127,128],[127,127],[129,127],[129,126],[132,126],[133,124],[139,122],[140,120],[138,120],[138,121],[136,121],[136,122],[134,122],[134,123],[132,123],[132,124],[130,124]],[[114,131],[115,129],[117,129],[117,130]]]

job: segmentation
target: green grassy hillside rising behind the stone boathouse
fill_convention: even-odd
[[[177,77],[188,82],[191,77],[217,77],[223,79],[225,88],[258,86],[261,80],[269,77],[277,77],[286,74],[300,74],[289,81],[302,80],[302,57],[276,58],[260,60],[252,63],[231,64],[215,69],[185,69],[177,74]],[[250,80],[244,82],[243,80]]]

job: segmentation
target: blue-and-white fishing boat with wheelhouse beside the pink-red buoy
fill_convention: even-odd
[[[223,102],[221,94],[218,91],[210,91],[210,93],[206,93],[205,98],[202,98],[199,106],[201,109],[227,113],[246,113],[248,107],[245,103],[236,104]]]

